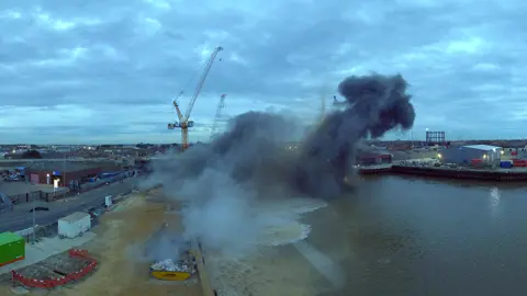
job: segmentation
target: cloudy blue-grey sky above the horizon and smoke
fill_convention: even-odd
[[[386,138],[525,138],[522,0],[0,1],[0,143],[190,141],[254,110],[312,124],[351,75],[401,73],[417,117]]]

